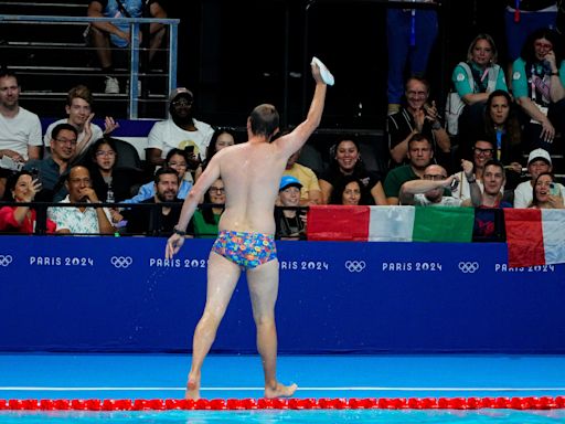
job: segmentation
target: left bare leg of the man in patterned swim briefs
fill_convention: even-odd
[[[230,299],[239,279],[239,267],[225,257],[211,252],[207,263],[206,305],[192,342],[192,365],[186,386],[186,399],[200,398],[202,364],[216,337]]]

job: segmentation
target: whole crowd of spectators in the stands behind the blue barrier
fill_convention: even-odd
[[[108,2],[90,1],[88,15],[138,12],[134,6],[129,10],[130,1],[124,3],[125,10],[108,11]],[[166,17],[157,1],[149,3],[153,17]],[[565,55],[564,35],[554,29],[557,2],[520,3],[522,9],[511,1],[507,10],[513,24],[523,25],[518,34],[510,21],[505,23],[511,61],[499,63],[495,40],[477,34],[450,73],[446,99],[431,98],[425,78],[427,56],[437,42],[435,12],[391,11],[388,156],[380,158],[385,169],[365,165],[370,158],[363,157],[355,137],[335,138],[323,169],[309,168],[297,151],[288,160],[274,205],[276,236],[306,240],[309,205],[476,208],[484,212],[477,213],[480,237],[492,235],[492,225],[482,220],[494,210],[565,208],[565,187],[559,183],[565,170],[555,165],[565,152]],[[523,21],[516,22],[516,17]],[[409,28],[420,19],[427,32]],[[406,31],[412,35],[405,36]],[[119,84],[105,52],[109,44],[126,46],[130,34],[96,22],[89,36],[107,73],[105,91],[116,93]],[[148,36],[154,49],[163,28],[151,25]],[[170,235],[183,199],[210,159],[245,138],[196,119],[194,94],[178,87],[169,95],[168,119],[156,123],[148,135],[145,167],[128,167],[120,165],[120,140],[113,137],[119,123],[110,116],[104,118],[104,128],[93,123],[88,87],[72,87],[66,117],[42,131],[40,117],[20,105],[20,83],[9,67],[0,71],[0,198],[9,202],[0,204],[3,233],[33,233],[33,202],[60,202],[47,209],[42,223],[46,233]],[[217,180],[201,199],[190,236],[217,234],[224,183]]]

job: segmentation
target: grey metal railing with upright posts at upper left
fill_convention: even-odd
[[[178,53],[178,25],[179,19],[157,19],[157,18],[88,18],[88,17],[52,17],[52,15],[15,15],[0,14],[0,24],[2,23],[41,23],[41,24],[89,24],[92,22],[111,22],[116,24],[130,25],[131,42],[129,44],[129,96],[128,96],[128,117],[138,118],[138,97],[139,97],[139,68],[140,68],[140,34],[142,24],[162,23],[169,31],[169,54],[168,54],[168,93],[177,87],[177,53]],[[8,63],[9,65],[9,63]],[[64,63],[62,64],[64,66]]]

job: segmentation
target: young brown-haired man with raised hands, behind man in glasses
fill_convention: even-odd
[[[58,119],[51,124],[43,136],[43,141],[45,142],[47,151],[51,151],[53,128],[58,124],[71,124],[78,132],[76,151],[72,159],[73,163],[77,163],[82,158],[84,158],[88,147],[92,146],[94,141],[103,138],[105,135],[110,134],[119,127],[119,124],[116,123],[111,116],[106,117],[104,121],[104,130],[96,124],[93,124],[93,94],[85,85],[77,85],[68,91],[65,106],[65,112],[68,115],[68,118]]]

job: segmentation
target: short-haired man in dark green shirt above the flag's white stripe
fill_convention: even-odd
[[[401,187],[406,181],[424,178],[426,167],[434,158],[431,142],[423,134],[414,134],[408,140],[408,165],[394,168],[384,180],[384,193],[388,204],[398,204]]]

